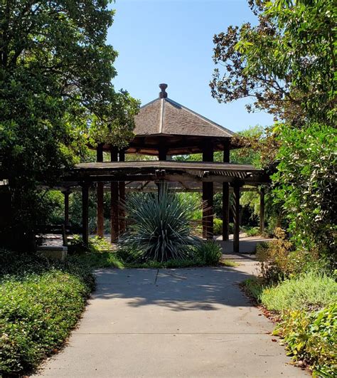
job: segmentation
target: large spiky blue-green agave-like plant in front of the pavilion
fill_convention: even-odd
[[[183,260],[200,243],[193,224],[196,204],[167,190],[159,196],[132,196],[124,204],[129,229],[119,248],[138,261]]]

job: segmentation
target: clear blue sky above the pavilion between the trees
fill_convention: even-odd
[[[213,35],[255,17],[247,0],[117,0],[108,43],[119,52],[116,89],[144,105],[167,83],[169,98],[232,131],[271,125],[264,112],[248,113],[247,100],[219,104],[210,95]]]

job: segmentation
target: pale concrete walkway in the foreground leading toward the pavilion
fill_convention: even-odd
[[[256,268],[104,269],[39,377],[304,377],[238,288]]]

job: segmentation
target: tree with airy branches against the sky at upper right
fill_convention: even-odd
[[[333,123],[336,7],[333,0],[250,0],[257,26],[230,26],[214,36],[210,83],[220,103],[254,98],[247,110],[301,125],[310,116]]]

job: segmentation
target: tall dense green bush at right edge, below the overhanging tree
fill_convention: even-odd
[[[274,174],[275,201],[289,221],[293,241],[306,251],[336,251],[337,130],[314,123],[283,128]]]

